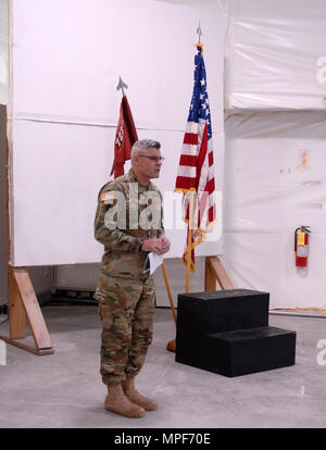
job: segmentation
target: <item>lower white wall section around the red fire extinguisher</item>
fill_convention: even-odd
[[[272,114],[260,117],[264,137],[254,137],[248,115],[242,117],[246,125],[239,127],[244,135],[251,129],[251,138],[239,136],[239,117],[231,118],[234,123],[226,127],[228,176],[223,261],[236,286],[271,292],[273,308],[326,308],[323,114],[324,138],[321,129],[317,139],[306,129],[305,138],[303,133],[296,138],[274,134],[277,127]],[[284,126],[286,116],[281,115],[278,118],[283,118]],[[296,114],[296,120],[298,125],[303,117]],[[315,120],[321,122],[321,117]],[[231,127],[237,129],[234,136]],[[301,150],[308,152],[304,167]],[[310,225],[312,229],[306,268],[294,264],[294,229],[300,225]]]

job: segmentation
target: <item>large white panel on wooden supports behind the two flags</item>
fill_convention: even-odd
[[[97,193],[112,165],[120,75],[129,86],[139,137],[162,142],[166,162],[156,184],[173,191],[199,21],[222,191],[224,30],[218,1],[13,0],[12,15],[14,265],[100,260],[102,246],[93,239],[92,223]],[[222,212],[218,218],[216,236]],[[175,213],[166,233],[173,241],[171,258],[181,255],[186,239],[184,229],[176,229],[178,220]],[[221,252],[222,239],[197,251]]]

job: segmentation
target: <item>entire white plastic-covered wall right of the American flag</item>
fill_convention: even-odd
[[[276,309],[326,308],[325,29],[318,0],[230,3],[223,261]],[[304,268],[301,225],[312,230]]]

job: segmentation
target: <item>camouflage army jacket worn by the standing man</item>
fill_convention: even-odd
[[[121,201],[123,199],[125,203]],[[113,229],[108,227],[110,222],[116,224],[117,214],[121,214],[117,226]],[[95,237],[104,245],[102,274],[146,279],[148,275],[143,275],[143,265],[148,252],[141,251],[142,242],[162,236],[162,195],[151,182],[148,186],[140,185],[130,170],[101,188],[95,218]]]

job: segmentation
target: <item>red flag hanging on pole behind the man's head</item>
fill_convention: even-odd
[[[126,96],[123,96],[120,105],[120,117],[114,139],[114,161],[111,174],[114,178],[124,174],[125,161],[130,159],[133,143],[138,140],[133,114]]]

